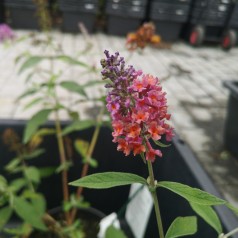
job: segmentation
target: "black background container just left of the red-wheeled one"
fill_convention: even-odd
[[[164,41],[176,41],[188,19],[190,0],[152,0],[149,18],[156,25],[156,32]]]

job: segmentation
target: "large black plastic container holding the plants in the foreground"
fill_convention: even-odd
[[[6,128],[14,128],[19,133],[22,133],[24,128],[24,121],[0,121],[0,134]],[[67,125],[67,122],[64,123]],[[48,123],[48,126],[53,126]],[[72,140],[76,138],[89,140],[92,136],[93,128],[79,133],[70,135]],[[55,138],[49,137],[44,141],[43,147],[46,148],[46,154],[34,160],[34,164],[40,166],[54,166],[59,163],[57,145]],[[9,153],[7,148],[1,144],[1,166],[3,169],[10,158],[14,155]],[[154,174],[158,181],[167,180],[174,182],[181,182],[193,187],[201,188],[216,196],[222,197],[215,187],[209,175],[203,170],[197,159],[192,154],[188,146],[175,136],[169,148],[162,149],[163,158],[157,159],[154,163]],[[74,181],[80,177],[82,168],[80,157],[76,154],[74,158],[74,166],[70,170],[70,181]],[[124,157],[121,152],[118,152],[116,145],[112,143],[111,131],[108,128],[101,128],[99,140],[93,158],[98,160],[99,166],[96,169],[90,169],[89,173],[105,172],[105,171],[121,171],[131,172],[147,178],[147,167],[142,162],[140,157],[130,158]],[[3,171],[1,171],[2,173]],[[74,187],[71,187],[74,190]],[[84,189],[84,197],[95,207],[103,213],[110,214],[118,212],[121,207],[127,202],[130,186],[115,187],[112,189],[93,190]],[[48,202],[48,208],[53,208],[60,205],[61,197],[61,179],[59,175],[54,175],[47,178],[40,186],[40,191],[45,194]],[[171,222],[178,216],[195,215],[189,204],[179,196],[163,189],[158,190],[161,213],[164,220],[164,227],[167,229]],[[215,208],[221,219],[224,231],[230,231],[238,226],[237,217],[226,207],[219,206]],[[126,222],[126,221],[125,221]],[[192,237],[217,237],[216,232],[208,226],[201,218],[198,218],[199,232]],[[130,236],[129,236],[130,237]],[[145,238],[158,237],[156,220],[154,211],[151,213],[146,229]],[[237,238],[234,235],[233,238]]]

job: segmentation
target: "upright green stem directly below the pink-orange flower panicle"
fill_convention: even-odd
[[[160,208],[159,208],[159,201],[156,193],[156,187],[155,187],[155,178],[153,173],[153,167],[151,161],[147,161],[148,164],[148,171],[149,171],[149,186],[150,186],[150,192],[154,201],[154,208],[155,208],[155,214],[156,214],[156,220],[159,230],[159,236],[160,238],[164,238],[164,229],[162,224],[162,219],[160,215]]]

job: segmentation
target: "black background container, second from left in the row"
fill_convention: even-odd
[[[60,0],[62,11],[62,30],[65,32],[80,32],[79,23],[83,23],[88,32],[96,30],[96,20],[99,4],[97,0]]]

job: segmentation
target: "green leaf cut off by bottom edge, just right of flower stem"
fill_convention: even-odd
[[[177,217],[170,225],[165,238],[176,238],[193,235],[197,232],[197,218],[190,217]]]

